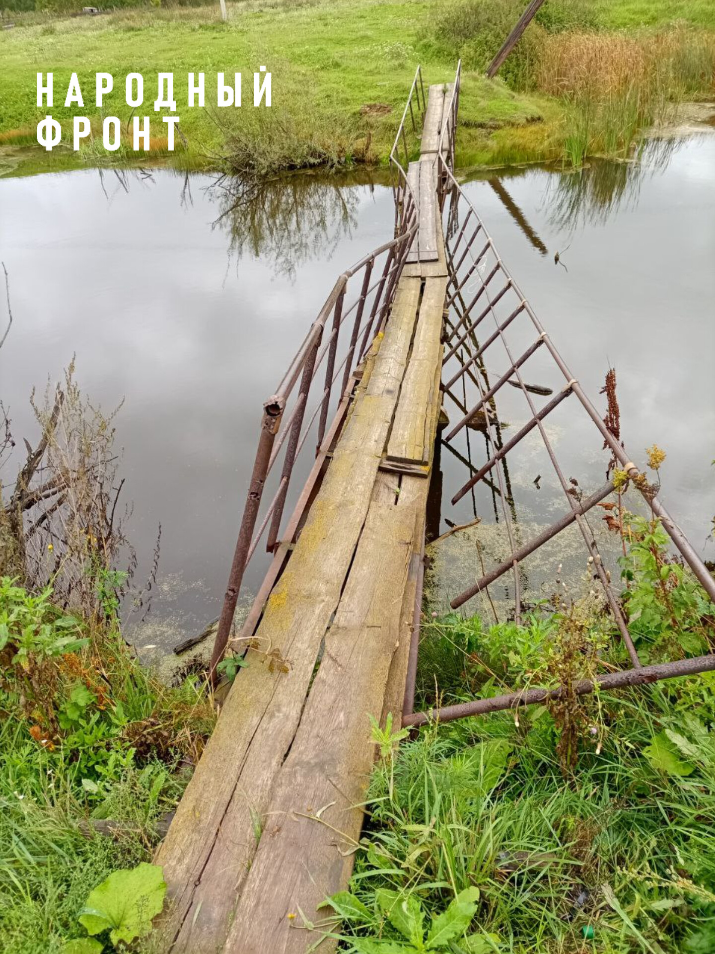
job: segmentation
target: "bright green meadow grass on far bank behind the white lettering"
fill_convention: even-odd
[[[77,71],[86,95],[86,110],[76,114],[100,117],[93,105],[93,74],[113,73],[117,92],[106,100],[105,114],[123,121],[131,109],[124,103],[123,76],[143,73],[145,98],[153,135],[163,128],[153,112],[156,75],[172,70],[176,77],[177,114],[189,142],[189,155],[177,154],[179,164],[212,164],[224,150],[232,132],[255,124],[253,105],[241,110],[208,108],[190,110],[186,73],[207,73],[207,103],[215,101],[209,80],[223,71],[243,73],[244,101],[251,101],[253,72],[266,64],[273,72],[272,114],[296,130],[296,139],[307,131],[317,143],[343,159],[360,154],[384,162],[392,146],[399,116],[415,68],[424,63],[425,82],[453,78],[456,56],[432,55],[424,62],[420,49],[422,25],[429,17],[424,2],[336,4],[277,4],[264,8],[230,6],[228,24],[217,19],[214,8],[181,10],[125,10],[96,19],[66,19],[47,25],[18,25],[0,33],[0,144],[14,136],[34,135],[37,121],[47,113],[35,107],[35,68],[54,73],[55,89],[66,91],[72,71]],[[336,29],[339,19],[339,30]],[[55,102],[58,100],[55,98]],[[386,104],[392,112],[361,114],[360,107]],[[72,114],[63,105],[51,111],[58,120]],[[541,116],[538,100],[521,96],[501,83],[468,79],[462,117],[475,122],[523,124]],[[254,131],[255,132],[255,131]],[[256,149],[263,148],[258,131]],[[465,135],[465,148],[480,135]],[[6,145],[7,149],[7,145]],[[94,158],[92,156],[92,158]],[[26,158],[17,167],[23,172]]]

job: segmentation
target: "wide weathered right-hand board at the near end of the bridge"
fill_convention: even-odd
[[[370,506],[227,952],[303,954],[309,941],[298,912],[312,923],[324,918],[318,906],[352,870],[375,754],[369,716],[382,711],[416,527],[414,506],[398,507],[389,487],[387,497]]]

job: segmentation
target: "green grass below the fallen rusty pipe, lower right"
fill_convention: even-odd
[[[404,954],[380,891],[426,922],[467,887],[480,892],[467,941],[440,952],[705,954],[715,945],[715,728],[696,719],[688,775],[649,757],[667,728],[688,744],[696,680],[590,706],[598,736],[562,776],[558,731],[543,708],[422,730],[384,760],[351,889],[365,907],[343,922],[345,949]],[[713,695],[712,683],[709,688]],[[695,722],[692,723],[695,726]],[[685,736],[688,736],[687,739]],[[343,900],[344,903],[344,900]],[[375,946],[361,939],[379,939]],[[374,942],[375,943],[375,942]]]

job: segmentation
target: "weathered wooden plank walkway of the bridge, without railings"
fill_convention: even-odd
[[[436,101],[440,119],[444,87],[430,88],[428,117]],[[350,877],[369,716],[401,716],[439,418],[446,266],[432,161],[434,240],[403,270],[249,665],[157,853],[172,954],[302,954],[319,934],[300,912],[319,921]]]

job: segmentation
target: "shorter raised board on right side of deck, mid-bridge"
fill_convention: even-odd
[[[430,410],[435,400],[435,368],[439,366],[446,291],[446,279],[425,280],[415,341],[387,444],[388,461],[426,464],[429,460]]]

